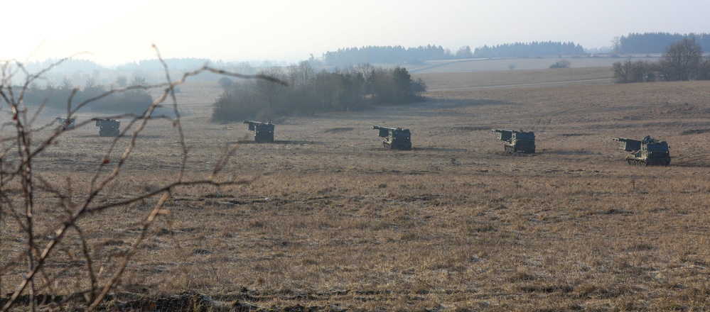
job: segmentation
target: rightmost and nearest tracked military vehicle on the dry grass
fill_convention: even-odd
[[[670,164],[670,152],[666,141],[655,140],[650,135],[646,135],[641,140],[627,138],[613,138],[619,143],[619,149],[630,152],[626,156],[629,165],[652,166]]]

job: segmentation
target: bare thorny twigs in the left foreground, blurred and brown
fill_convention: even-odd
[[[166,62],[164,62],[164,60],[162,59],[158,48],[155,46],[154,48],[156,50],[156,54],[158,55],[158,59],[161,61],[161,64],[163,64],[166,75],[166,83],[151,84],[148,86],[131,86],[122,89],[112,89],[102,94],[99,94],[98,96],[94,96],[90,99],[82,101],[76,105],[72,104],[72,100],[74,99],[77,89],[73,89],[72,93],[68,97],[66,118],[72,118],[72,116],[74,116],[77,111],[80,111],[82,108],[90,106],[92,103],[95,103],[99,99],[103,99],[106,96],[110,96],[111,94],[130,91],[134,89],[164,89],[163,94],[159,96],[158,99],[154,100],[153,103],[151,103],[151,105],[141,115],[121,115],[124,118],[131,118],[128,122],[128,126],[123,128],[120,135],[117,138],[114,138],[111,145],[109,145],[107,152],[104,154],[104,160],[97,165],[97,170],[90,179],[87,194],[83,196],[81,201],[77,201],[76,203],[72,202],[71,200],[72,195],[70,189],[68,190],[68,194],[63,194],[63,191],[60,191],[60,189],[50,184],[50,182],[41,179],[41,177],[36,177],[37,174],[33,172],[33,159],[40,155],[41,152],[43,152],[47,147],[53,145],[56,140],[61,135],[63,135],[63,133],[65,133],[63,127],[58,127],[58,129],[55,130],[55,132],[53,132],[51,135],[49,135],[48,138],[44,138],[43,140],[41,140],[41,142],[33,145],[32,133],[34,130],[37,129],[33,130],[31,125],[36,121],[39,112],[35,113],[34,116],[32,116],[32,118],[28,120],[27,109],[23,104],[23,97],[25,96],[26,90],[28,89],[30,84],[37,79],[41,79],[43,75],[46,74],[50,69],[53,69],[54,67],[60,65],[62,62],[65,62],[65,60],[68,60],[68,58],[59,60],[58,62],[55,62],[53,65],[50,65],[49,67],[41,70],[36,74],[28,74],[26,68],[21,62],[15,62],[16,67],[12,67],[9,63],[0,65],[0,100],[4,101],[13,116],[11,122],[4,123],[2,126],[0,126],[0,130],[3,130],[6,127],[12,127],[14,128],[14,133],[16,133],[16,135],[12,137],[0,138],[0,144],[3,145],[2,151],[0,153],[0,221],[3,221],[3,218],[5,218],[4,216],[6,215],[14,216],[17,218],[20,228],[23,230],[24,233],[26,233],[26,248],[25,252],[23,253],[25,254],[24,256],[26,257],[27,262],[25,276],[21,279],[21,282],[17,284],[9,300],[6,301],[4,306],[0,307],[2,311],[6,311],[12,306],[14,306],[14,303],[16,303],[18,297],[24,291],[27,291],[29,297],[31,298],[29,308],[31,310],[36,309],[38,304],[35,286],[36,277],[44,275],[45,284],[50,283],[53,280],[52,277],[43,272],[43,268],[48,263],[50,256],[53,255],[58,245],[62,243],[63,238],[65,238],[65,236],[68,234],[68,230],[70,228],[74,228],[77,231],[77,235],[81,244],[82,255],[83,258],[86,260],[85,268],[87,269],[88,279],[90,282],[89,294],[87,294],[87,299],[90,301],[90,306],[88,306],[87,308],[89,310],[96,309],[98,308],[102,300],[105,298],[105,296],[109,293],[109,291],[111,291],[117,286],[117,282],[125,271],[127,264],[131,260],[131,257],[136,253],[136,250],[139,247],[141,241],[147,235],[150,226],[154,223],[158,216],[167,213],[163,206],[166,201],[171,198],[171,194],[173,193],[173,190],[176,189],[176,187],[193,185],[208,185],[220,187],[234,184],[248,184],[252,182],[252,180],[248,179],[230,182],[217,181],[217,175],[222,172],[223,169],[225,169],[228,161],[230,160],[230,157],[235,154],[235,151],[237,150],[237,147],[240,145],[241,141],[240,143],[237,143],[236,145],[232,146],[230,150],[227,151],[226,155],[224,155],[217,162],[212,172],[210,172],[208,176],[205,177],[205,179],[195,179],[190,181],[184,180],[185,168],[188,160],[189,151],[187,144],[185,143],[185,137],[181,124],[181,114],[178,111],[178,101],[175,94],[175,88],[178,85],[183,84],[189,77],[193,77],[202,72],[213,72],[215,74],[222,74],[230,77],[239,77],[243,79],[263,79],[277,84],[286,83],[282,82],[279,79],[275,79],[273,77],[265,75],[244,75],[235,72],[227,72],[222,69],[215,69],[206,65],[195,69],[192,72],[185,72],[182,77],[173,81],[168,66]],[[16,92],[16,90],[14,90],[14,87],[11,84],[11,81],[15,74],[17,74],[18,72],[24,72],[27,78],[22,87],[18,90],[18,92]],[[154,111],[160,104],[165,102],[168,97],[172,101],[173,113],[175,114],[175,118],[173,119],[173,126],[175,126],[177,129],[179,143],[181,145],[181,164],[177,177],[172,182],[158,187],[155,190],[149,191],[146,194],[131,196],[128,199],[113,203],[97,204],[98,196],[106,193],[107,185],[109,185],[111,182],[114,182],[121,174],[122,168],[127,163],[131,156],[131,153],[136,147],[136,138],[138,138],[139,134],[144,130],[149,121],[154,120],[156,118],[161,118],[161,116],[154,116]],[[40,110],[42,107],[43,106],[40,107]],[[78,123],[77,126],[84,126],[89,122],[90,121]],[[50,126],[51,125],[48,124],[38,129],[49,128]],[[118,146],[117,144],[119,142],[119,139],[126,136],[129,137],[128,146],[125,147],[125,149],[119,156],[119,159],[112,162],[111,157],[112,155],[114,155],[114,150],[116,150]],[[11,169],[6,170],[7,166],[4,164],[3,160],[5,160],[7,155],[9,155],[9,150],[6,149],[4,144],[11,142],[13,143],[13,145],[15,145],[14,149],[16,149],[18,162],[14,163],[11,166]],[[102,172],[104,172],[103,169],[109,166],[109,164],[113,165],[112,171],[109,174],[102,174]],[[24,211],[22,213],[13,208],[13,199],[11,199],[8,194],[6,194],[6,186],[16,180],[18,180],[18,182],[21,182],[21,195],[24,199]],[[36,220],[34,219],[34,196],[35,192],[40,190],[46,191],[49,194],[55,194],[55,196],[57,196],[60,201],[59,205],[61,206],[61,208],[65,209],[65,211],[70,214],[65,221],[62,221],[62,223],[57,225],[53,233],[53,237],[48,240],[48,242],[46,243],[46,245],[44,245],[43,248],[37,247],[34,238],[36,235],[34,228],[34,225],[36,223]],[[100,213],[110,208],[127,206],[130,204],[134,204],[138,201],[144,201],[146,199],[154,198],[154,196],[158,195],[161,195],[160,199],[158,199],[151,213],[143,221],[141,230],[136,235],[136,238],[134,238],[131,247],[129,247],[129,250],[127,250],[127,252],[122,255],[122,259],[120,260],[117,269],[115,270],[115,272],[112,273],[112,276],[109,278],[109,280],[102,284],[102,282],[99,282],[100,273],[96,274],[95,272],[95,258],[92,255],[92,250],[87,240],[87,234],[84,233],[77,226],[77,222],[88,214]],[[6,213],[8,211],[11,211],[11,213]],[[23,218],[18,218],[18,216],[23,216]],[[2,240],[0,239],[0,241]],[[3,286],[3,281],[1,277],[2,275],[0,274],[0,289]]]

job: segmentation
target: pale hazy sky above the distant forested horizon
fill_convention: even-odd
[[[699,0],[6,0],[0,60],[70,57],[102,65],[156,58],[306,60],[365,45],[573,41],[628,33],[710,33]],[[81,54],[77,54],[81,53]]]

